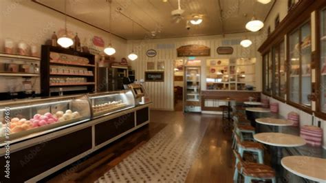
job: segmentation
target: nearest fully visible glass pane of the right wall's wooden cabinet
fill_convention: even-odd
[[[311,28],[307,22],[290,34],[290,101],[311,106]]]

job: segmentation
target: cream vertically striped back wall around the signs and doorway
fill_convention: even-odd
[[[129,65],[135,69],[135,78],[137,80],[144,78],[144,72],[146,71],[146,62],[148,61],[164,61],[164,82],[146,82],[145,87],[151,100],[153,101],[152,108],[160,110],[173,110],[173,62],[177,57],[176,49],[182,45],[199,44],[210,47],[211,56],[198,57],[202,60],[202,89],[206,89],[205,72],[206,59],[208,58],[241,58],[241,57],[256,57],[256,80],[257,90],[261,91],[261,56],[257,52],[260,40],[259,36],[251,37],[252,46],[248,48],[241,47],[238,43],[242,39],[243,34],[231,34],[222,36],[201,36],[201,37],[188,37],[177,39],[148,39],[148,40],[136,40],[128,42],[128,52],[131,52],[132,46],[138,59],[136,61],[129,61]],[[234,52],[232,55],[219,55],[216,52],[219,46],[232,46]],[[157,55],[155,57],[146,56],[147,50],[156,50]],[[182,58],[181,58],[182,59]],[[184,58],[185,59],[185,58]]]

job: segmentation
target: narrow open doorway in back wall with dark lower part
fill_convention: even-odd
[[[184,61],[175,60],[173,67],[173,94],[174,110],[183,111],[183,91],[184,91]]]

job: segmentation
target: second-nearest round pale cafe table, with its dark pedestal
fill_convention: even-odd
[[[272,158],[272,164],[280,164],[281,158],[283,157],[282,148],[283,147],[300,147],[305,145],[305,140],[299,136],[293,136],[286,133],[257,133],[254,135],[254,140],[261,142],[263,144],[268,144],[272,147],[276,147],[274,150]]]

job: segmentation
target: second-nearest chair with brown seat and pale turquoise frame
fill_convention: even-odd
[[[259,142],[241,141],[237,131],[235,132],[235,140],[237,141],[237,149],[241,157],[244,152],[257,154],[258,162],[263,164],[263,144]]]

